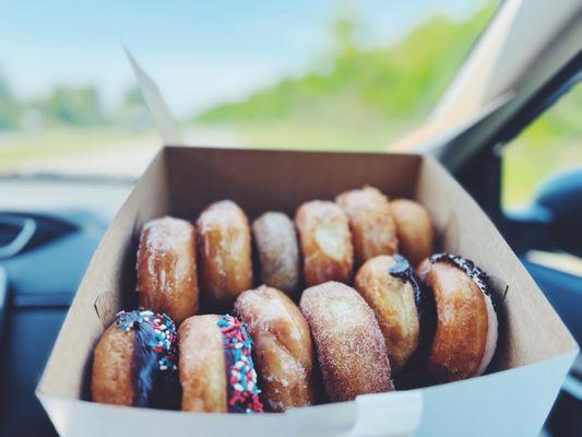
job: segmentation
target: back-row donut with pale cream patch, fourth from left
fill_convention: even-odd
[[[313,200],[297,210],[295,224],[304,256],[306,284],[349,282],[354,249],[347,217],[333,202]]]

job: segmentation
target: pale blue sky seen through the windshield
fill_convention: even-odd
[[[0,73],[25,98],[56,84],[97,84],[115,103],[134,83],[124,42],[178,115],[241,98],[299,74],[331,45],[334,0],[3,0]],[[387,44],[440,12],[463,20],[482,1],[351,2],[363,44]]]

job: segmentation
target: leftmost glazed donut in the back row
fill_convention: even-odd
[[[198,311],[194,227],[185,220],[147,222],[138,248],[140,306],[166,312],[176,323]]]

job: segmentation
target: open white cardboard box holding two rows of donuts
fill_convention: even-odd
[[[140,74],[139,80],[143,87]],[[147,102],[167,139],[155,114],[159,108]],[[439,248],[472,259],[491,276],[502,311],[487,375],[281,414],[182,413],[90,401],[93,347],[117,311],[135,305],[136,239],[145,222],[164,215],[194,220],[221,199],[237,202],[251,220],[269,210],[293,216],[301,202],[333,199],[365,184],[424,204]],[[577,353],[575,341],[491,222],[433,158],[167,145],[103,237],[36,393],[62,436],[534,436]]]

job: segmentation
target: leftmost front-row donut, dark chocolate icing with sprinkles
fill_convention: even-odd
[[[176,328],[165,314],[120,311],[95,346],[94,402],[128,406],[177,406]]]

